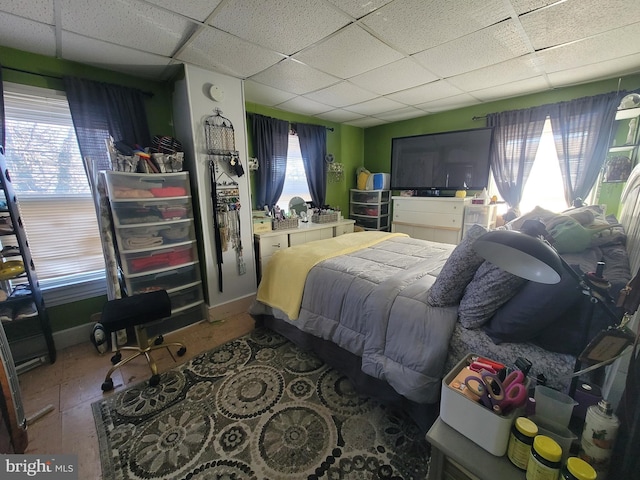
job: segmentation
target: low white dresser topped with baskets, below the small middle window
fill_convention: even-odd
[[[301,222],[297,228],[254,233],[258,283],[269,259],[278,250],[352,233],[354,223],[354,220],[338,220],[330,223]]]

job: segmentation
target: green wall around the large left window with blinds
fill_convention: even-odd
[[[64,90],[61,77],[70,75],[152,93],[145,105],[151,134],[173,135],[170,83],[153,82],[81,63],[58,60],[2,46],[0,46],[0,65],[3,67],[2,76],[6,82]],[[52,330],[57,332],[88,323],[91,314],[100,312],[106,301],[107,297],[103,295],[47,308]]]

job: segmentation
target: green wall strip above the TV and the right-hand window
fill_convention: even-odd
[[[618,87],[620,90],[640,88],[640,75],[623,77],[620,85],[618,79],[610,79],[370,127],[364,131],[364,166],[372,172],[390,172],[391,139],[394,137],[484,127],[484,119],[473,120],[473,117],[616,91]]]

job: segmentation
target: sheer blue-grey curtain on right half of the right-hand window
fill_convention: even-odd
[[[550,106],[568,206],[576,198],[585,198],[596,183],[607,156],[616,109],[625,93],[577,98]]]

